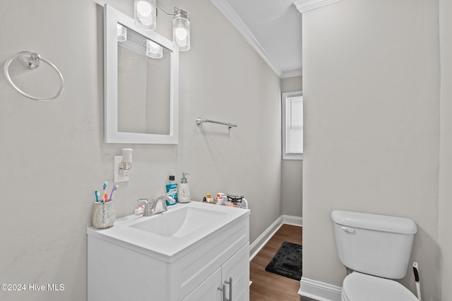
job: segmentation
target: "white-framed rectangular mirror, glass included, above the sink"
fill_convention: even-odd
[[[177,144],[179,49],[104,6],[105,142]]]

